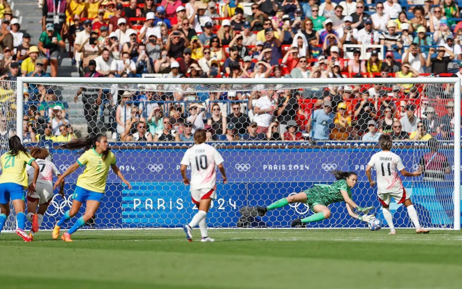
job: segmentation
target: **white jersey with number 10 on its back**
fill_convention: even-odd
[[[217,183],[215,166],[223,162],[223,157],[211,145],[202,143],[189,148],[181,164],[191,166],[191,190],[214,189]]]

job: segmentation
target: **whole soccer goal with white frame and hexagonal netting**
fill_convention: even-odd
[[[229,178],[227,185],[217,185],[210,227],[288,227],[312,214],[307,205],[290,204],[264,217],[242,217],[239,208],[268,206],[313,184],[332,183],[332,170],[356,172],[353,200],[374,206],[383,220],[377,189],[370,188],[364,170],[379,150],[378,136],[391,134],[393,152],[406,169],[425,171],[402,177],[422,225],[460,228],[457,78],[18,78],[18,87],[24,84],[24,98],[17,91],[23,117],[6,118],[7,129],[32,123],[20,134],[24,142],[48,148],[61,171],[79,152],[63,150],[60,143],[102,133],[133,185],[128,189],[109,174],[105,198],[88,224],[95,228],[187,223],[196,209],[179,167],[196,128],[208,131]],[[14,115],[13,106],[3,109],[4,115]],[[46,229],[69,209],[79,173],[66,179],[66,198],[55,196],[51,202]],[[329,219],[307,227],[366,227],[348,216],[343,203],[329,208]],[[402,204],[392,202],[390,208],[395,227],[412,227]]]

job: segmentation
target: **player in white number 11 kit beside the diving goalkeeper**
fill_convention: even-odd
[[[404,204],[406,206],[409,218],[411,218],[412,223],[414,223],[416,227],[417,234],[429,233],[429,230],[420,226],[417,211],[414,208],[410,196],[406,193],[406,189],[403,187],[400,176],[398,176],[398,172],[401,172],[405,177],[417,177],[422,174],[422,171],[416,171],[414,173],[406,171],[401,158],[390,151],[392,142],[392,137],[390,135],[383,134],[379,137],[379,144],[382,151],[374,154],[366,166],[366,176],[369,180],[369,184],[371,187],[374,187],[376,184],[371,177],[372,168],[375,168],[377,172],[377,195],[383,207],[383,216],[390,227],[390,234],[396,234],[393,225],[393,215],[389,208],[391,198],[395,199],[398,204]]]

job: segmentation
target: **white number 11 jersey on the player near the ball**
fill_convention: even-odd
[[[404,169],[401,158],[388,151],[380,151],[371,157],[369,166],[377,172],[377,192],[379,194],[395,193],[403,189],[398,172]]]

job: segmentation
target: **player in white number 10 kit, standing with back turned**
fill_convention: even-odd
[[[189,148],[181,160],[181,175],[183,183],[190,185],[191,199],[199,211],[194,215],[188,225],[184,226],[186,239],[193,242],[192,229],[199,225],[201,230],[201,242],[214,242],[207,232],[207,212],[209,212],[212,200],[217,198],[217,177],[215,166],[218,166],[222,174],[223,183],[227,183],[223,157],[211,145],[205,143],[206,131],[198,129],[194,133],[194,146]],[[191,180],[186,176],[186,169],[191,166]]]

